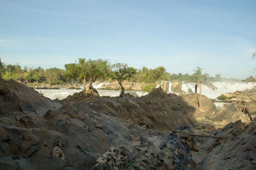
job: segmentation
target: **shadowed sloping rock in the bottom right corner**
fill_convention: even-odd
[[[226,125],[213,134],[223,136],[221,141],[209,139],[217,145],[208,153],[199,169],[255,169],[256,167],[256,122],[244,127],[241,121]],[[211,145],[208,148],[211,148]]]

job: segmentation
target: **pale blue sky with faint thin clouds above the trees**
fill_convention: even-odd
[[[255,75],[255,0],[0,0],[5,64],[59,67],[79,58],[168,73]]]

